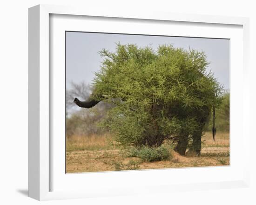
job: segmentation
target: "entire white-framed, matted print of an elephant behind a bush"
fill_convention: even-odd
[[[30,8],[29,196],[248,186],[248,22]]]

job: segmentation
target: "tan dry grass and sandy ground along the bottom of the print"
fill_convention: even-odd
[[[229,165],[229,133],[218,133],[215,142],[211,133],[206,133],[200,157],[181,156],[172,150],[171,160],[143,163],[113,149],[108,143],[110,138],[110,135],[91,135],[67,139],[67,173]]]

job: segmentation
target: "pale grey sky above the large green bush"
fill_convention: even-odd
[[[151,45],[156,50],[158,45],[173,44],[184,49],[204,51],[210,62],[208,70],[212,70],[217,80],[229,89],[229,40],[212,38],[187,38],[141,36],[126,34],[66,33],[66,82],[67,89],[70,82],[85,81],[92,83],[94,72],[100,69],[102,58],[98,54],[103,48],[115,51],[115,43]]]

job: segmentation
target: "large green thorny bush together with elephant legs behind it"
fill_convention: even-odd
[[[206,72],[203,52],[172,45],[154,51],[117,44],[115,53],[103,49],[100,54],[104,60],[95,73],[90,99],[116,105],[102,123],[115,141],[158,147],[169,140],[178,142],[176,150],[184,154],[192,138],[194,148],[201,149],[205,118],[222,90],[213,74]]]

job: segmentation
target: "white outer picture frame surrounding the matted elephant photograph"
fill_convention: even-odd
[[[115,184],[102,184],[100,188],[88,189],[67,189],[52,190],[51,182],[53,164],[51,160],[51,152],[54,148],[51,144],[51,115],[54,107],[51,106],[52,90],[51,90],[51,70],[49,56],[51,55],[50,43],[51,36],[49,35],[50,15],[73,15],[77,17],[101,17],[101,18],[119,18],[119,19],[132,19],[134,22],[141,19],[157,20],[158,22],[172,21],[176,24],[187,22],[199,23],[201,26],[205,25],[219,25],[225,27],[228,25],[240,26],[242,28],[241,42],[237,42],[242,46],[241,57],[242,68],[240,68],[240,74],[243,74],[243,109],[241,111],[241,118],[243,124],[239,132],[243,135],[240,140],[243,146],[243,164],[241,164],[241,174],[238,174],[236,178],[230,178],[228,180],[215,180],[207,181],[202,179],[200,182],[187,182],[187,183],[153,183],[141,184],[138,182],[134,187],[118,187],[118,182]],[[237,38],[238,39],[238,38]],[[239,41],[239,40],[236,40]],[[249,186],[249,123],[245,123],[245,119],[249,119],[249,81],[247,80],[249,73],[249,19],[241,17],[222,17],[222,16],[209,16],[209,15],[193,15],[193,14],[174,14],[174,13],[160,13],[160,12],[118,12],[118,11],[100,11],[91,8],[74,8],[70,6],[52,6],[52,5],[38,5],[29,8],[29,197],[37,200],[51,200],[51,199],[73,199],[73,198],[87,198],[87,197],[99,197],[99,196],[118,196],[129,194],[142,194],[142,193],[157,193],[157,192],[172,192],[172,191],[186,191],[186,190],[205,190],[205,189],[219,189],[219,188],[232,188],[232,187],[248,187]],[[232,65],[232,64],[231,64]],[[231,76],[232,81],[232,76]],[[232,90],[232,87],[231,87]],[[231,91],[232,95],[232,91]],[[232,99],[232,98],[231,98]],[[232,119],[232,112],[231,112]],[[247,121],[248,122],[248,121]],[[232,143],[232,142],[231,142]],[[234,155],[235,156],[235,155]],[[231,156],[232,157],[232,156]],[[235,164],[235,163],[234,163]],[[60,166],[60,165],[58,165]],[[232,168],[232,163],[230,163]],[[226,174],[229,174],[232,170],[226,170]],[[183,172],[183,169],[175,172]],[[158,170],[158,172],[168,174],[170,170]],[[222,170],[223,171],[223,170]],[[216,169],[209,169],[209,173],[221,173],[222,171]],[[234,170],[233,170],[234,171]],[[233,172],[232,171],[232,172]],[[136,174],[143,171],[126,172],[137,175],[138,179],[148,174],[154,174],[155,171],[147,171],[147,174]],[[172,171],[174,172],[174,171]],[[192,169],[186,170],[186,173],[192,172]],[[125,172],[112,172],[110,174],[105,173],[92,173],[89,178],[101,179],[113,177],[113,174],[122,179],[124,176],[129,179],[129,176],[124,175]],[[63,173],[65,174],[65,173]],[[74,175],[73,175],[74,176]],[[85,177],[84,174],[76,174],[76,180],[80,180]],[[206,176],[207,178],[207,176]],[[62,178],[63,179],[63,178]],[[71,179],[71,178],[70,178]],[[70,180],[68,179],[68,180]],[[73,179],[71,179],[73,180]],[[58,181],[57,181],[58,182]],[[145,181],[144,181],[145,182]],[[75,182],[78,183],[78,182]],[[90,182],[91,183],[91,182]],[[63,186],[63,185],[60,185]],[[67,185],[68,186],[68,185]],[[70,187],[70,186],[69,186]],[[73,184],[74,187],[74,184]],[[107,191],[104,192],[104,189]]]

